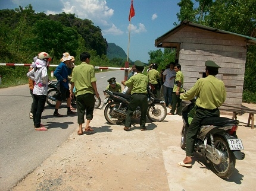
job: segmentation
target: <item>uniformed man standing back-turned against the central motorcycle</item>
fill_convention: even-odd
[[[144,65],[141,61],[135,61],[136,72],[138,74],[130,77],[128,81],[121,81],[123,85],[132,88],[132,96],[130,97],[130,103],[128,106],[126,121],[124,123],[124,130],[129,130],[131,127],[131,120],[133,112],[139,106],[141,108],[141,119],[139,125],[141,130],[146,130],[146,110],[148,109],[148,97],[146,96],[146,88],[149,79],[146,75],[142,74]]]

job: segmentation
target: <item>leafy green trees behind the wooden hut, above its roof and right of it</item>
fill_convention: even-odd
[[[255,0],[182,0],[178,4],[179,21],[189,20],[193,23],[256,37]],[[256,103],[256,47],[247,49],[245,78],[243,84],[243,101]]]

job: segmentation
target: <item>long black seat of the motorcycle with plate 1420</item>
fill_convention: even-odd
[[[207,117],[202,120],[201,125],[224,126],[227,124],[239,124],[239,120],[229,119],[227,117]]]

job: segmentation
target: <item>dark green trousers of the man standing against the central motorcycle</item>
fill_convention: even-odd
[[[126,122],[124,123],[124,126],[126,126],[127,128],[131,127],[133,112],[137,109],[138,106],[141,109],[141,119],[139,121],[139,125],[142,129],[146,127],[146,111],[148,109],[148,97],[146,96],[146,94],[133,94],[130,97],[130,103],[126,114]]]

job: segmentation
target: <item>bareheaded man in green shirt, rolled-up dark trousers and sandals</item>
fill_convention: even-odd
[[[93,118],[93,109],[95,98],[99,98],[99,93],[96,85],[96,77],[94,66],[90,65],[90,55],[87,52],[83,52],[80,55],[80,65],[74,67],[71,78],[71,90],[70,97],[76,95],[77,105],[77,123],[79,124],[79,130],[77,135],[83,135],[82,125],[85,123],[85,111],[86,111],[86,125],[85,131],[93,131],[90,128],[90,120]],[[73,93],[74,86],[76,91]]]

